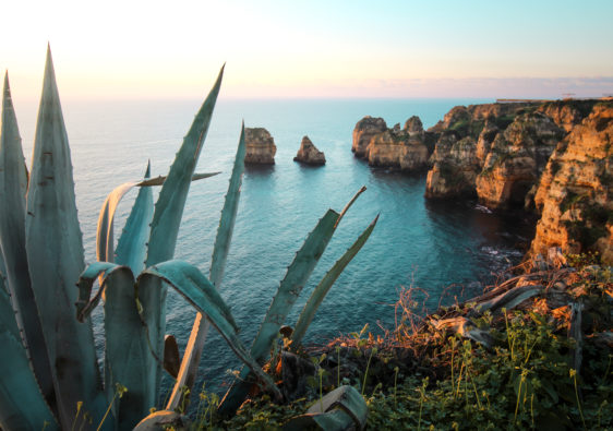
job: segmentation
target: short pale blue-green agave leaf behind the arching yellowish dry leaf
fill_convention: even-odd
[[[145,181],[149,177],[151,163],[147,163]],[[130,266],[132,274],[140,274],[145,267],[145,254],[152,218],[153,191],[151,187],[142,187],[141,190],[139,190],[139,195],[134,201],[130,216],[128,216],[123,232],[121,237],[119,237],[116,250],[116,262],[120,265]],[[112,241],[110,241],[110,243],[112,244]]]

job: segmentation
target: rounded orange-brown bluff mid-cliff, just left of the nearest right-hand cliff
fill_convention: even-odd
[[[492,143],[476,180],[479,201],[491,208],[522,206],[563,136],[540,112],[517,117]]]

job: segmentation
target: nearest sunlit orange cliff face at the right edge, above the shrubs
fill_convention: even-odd
[[[601,103],[546,165],[534,196],[541,218],[531,252],[544,253],[552,246],[566,253],[591,249],[613,264],[612,194],[613,104]]]

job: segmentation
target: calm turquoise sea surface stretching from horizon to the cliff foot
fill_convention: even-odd
[[[14,99],[29,165],[37,107],[20,105],[19,94]],[[493,273],[520,259],[518,247],[531,235],[525,220],[489,214],[476,203],[426,202],[424,177],[371,169],[353,157],[351,133],[365,115],[383,117],[388,127],[418,115],[428,128],[456,105],[482,101],[489,100],[220,99],[197,171],[223,173],[192,183],[176,258],[208,273],[244,119],[247,127],[268,129],[277,145],[275,166],[245,171],[223,282],[223,296],[248,346],[305,236],[328,207],[340,211],[362,185],[366,192],[340,224],[288,324],[296,323],[313,287],[378,213],[373,235],[326,297],[308,340],[358,331],[364,323],[393,327],[393,304],[402,288],[421,288],[418,299],[429,308],[438,304],[444,289],[446,302],[462,292],[465,298],[479,294]],[[200,100],[63,103],[88,263],[95,261],[96,222],[106,195],[120,183],[141,178],[149,158],[153,176],[166,175],[199,106]],[[305,134],[325,152],[324,167],[292,161]],[[120,206],[116,232],[121,231],[135,194],[131,192]],[[181,348],[194,314],[178,295],[170,295],[168,332]],[[95,331],[101,351],[100,319],[98,312]],[[224,340],[211,336],[202,362],[207,385],[230,380],[225,371],[238,367]]]

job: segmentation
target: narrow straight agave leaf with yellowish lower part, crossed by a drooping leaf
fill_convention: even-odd
[[[235,157],[235,167],[232,169],[232,176],[230,177],[228,193],[226,194],[226,200],[224,201],[224,208],[221,209],[221,218],[219,220],[219,227],[217,228],[215,247],[213,248],[211,282],[217,288],[219,288],[224,276],[224,268],[230,250],[235,220],[237,219],[242,173],[244,171],[245,152],[247,146],[244,143],[243,122],[239,139],[239,146]],[[192,326],[190,339],[188,340],[188,346],[185,347],[177,382],[175,383],[172,394],[170,395],[170,399],[166,407],[168,410],[173,410],[179,406],[181,398],[185,393],[183,387],[188,387],[191,391],[194,385],[197,368],[200,366],[200,358],[202,356],[202,349],[204,348],[204,340],[206,339],[206,334],[208,333],[208,326],[209,322],[204,319],[202,313],[197,313]]]

